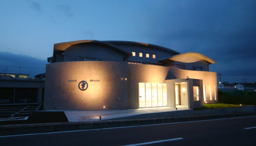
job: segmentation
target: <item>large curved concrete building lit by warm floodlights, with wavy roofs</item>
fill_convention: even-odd
[[[218,103],[215,63],[130,41],[56,43],[45,76],[45,110],[104,110]]]

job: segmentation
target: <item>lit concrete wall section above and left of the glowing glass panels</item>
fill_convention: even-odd
[[[128,108],[139,108],[139,83],[165,83],[168,71],[164,66],[128,64]]]

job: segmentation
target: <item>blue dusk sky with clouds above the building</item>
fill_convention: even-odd
[[[210,71],[222,82],[254,83],[255,8],[255,0],[2,1],[0,72],[44,73],[54,43],[125,40],[198,52],[216,61]]]

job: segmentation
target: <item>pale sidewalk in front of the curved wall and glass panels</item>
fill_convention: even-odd
[[[66,110],[64,113],[69,122],[82,122],[98,121],[99,116],[101,116],[101,120],[127,119],[129,117],[135,118],[136,116],[138,118],[186,116],[191,114],[191,111],[192,109],[188,109],[188,106],[177,106],[177,110],[171,107],[158,107],[126,110]]]

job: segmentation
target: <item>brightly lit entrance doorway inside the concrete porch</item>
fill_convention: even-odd
[[[187,82],[175,83],[175,105],[188,106]]]

